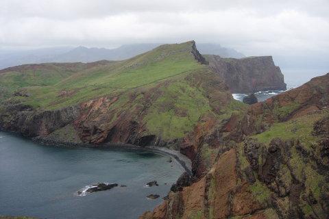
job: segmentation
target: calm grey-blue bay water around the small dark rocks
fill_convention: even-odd
[[[141,149],[42,146],[0,131],[0,215],[137,218],[160,205],[184,171],[167,159]],[[145,186],[154,180],[159,186]],[[78,190],[97,182],[119,186],[77,196]],[[148,200],[149,194],[160,198]]]

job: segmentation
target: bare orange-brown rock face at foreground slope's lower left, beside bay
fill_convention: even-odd
[[[246,183],[237,185],[236,165],[235,149],[223,153],[208,175],[182,191],[171,192],[164,204],[144,218],[228,218],[262,209]],[[162,215],[159,217],[157,212]]]

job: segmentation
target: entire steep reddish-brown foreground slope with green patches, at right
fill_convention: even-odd
[[[328,218],[328,98],[329,73],[200,127],[193,177],[141,218]]]

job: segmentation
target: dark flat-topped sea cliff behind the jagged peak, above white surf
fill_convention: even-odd
[[[260,90],[286,90],[283,75],[271,56],[241,59],[205,55],[210,68],[228,84],[232,93],[253,93]]]

